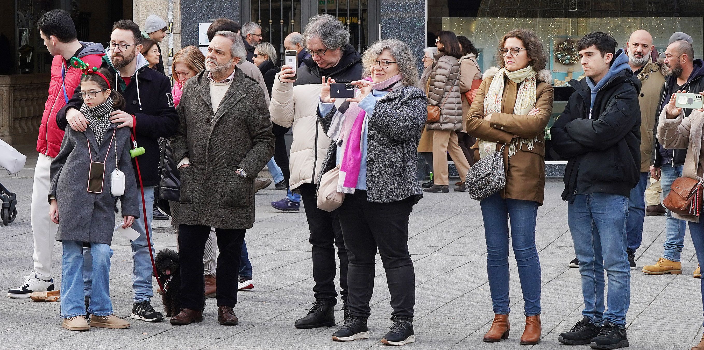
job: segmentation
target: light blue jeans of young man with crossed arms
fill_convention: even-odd
[[[631,267],[626,254],[626,196],[578,194],[567,205],[574,253],[579,259],[586,316],[596,325],[609,321],[625,327],[631,303]],[[604,311],[604,270],[608,276],[608,310]]]

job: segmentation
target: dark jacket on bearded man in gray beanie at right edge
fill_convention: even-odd
[[[702,78],[704,77],[704,61],[697,58],[694,60],[693,65],[694,70],[692,70],[692,73],[687,78],[687,82],[684,83],[684,89],[686,92],[696,94],[704,91],[704,79]],[[665,77],[665,87],[662,88],[662,94],[660,95],[660,111],[662,111],[662,108],[665,108],[665,105],[670,102],[670,96],[672,96],[674,92],[677,92],[677,90],[675,90],[676,85],[677,77],[674,75],[668,75]],[[685,117],[688,117],[693,111],[691,108],[683,109]],[[658,130],[658,119],[660,118],[655,118],[655,127],[653,128],[653,130],[655,130],[654,132],[657,132]],[[672,166],[684,165],[684,157],[687,154],[686,149],[664,149],[660,142],[658,142],[658,138],[655,137],[655,147],[653,149],[653,154],[655,155],[653,166],[655,168],[662,167],[662,152],[667,152],[667,154],[670,154],[670,164]]]

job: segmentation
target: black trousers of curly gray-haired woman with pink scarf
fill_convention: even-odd
[[[415,270],[408,253],[408,216],[412,210],[413,198],[372,203],[367,201],[367,192],[359,189],[347,194],[337,209],[349,258],[350,315],[370,316],[378,248],[391,293],[391,317],[413,319]]]

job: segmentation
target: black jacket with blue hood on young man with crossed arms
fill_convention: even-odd
[[[572,203],[577,194],[595,192],[629,196],[641,173],[640,80],[619,49],[596,86],[589,77],[573,86],[551,129],[553,149],[569,158],[562,199]]]

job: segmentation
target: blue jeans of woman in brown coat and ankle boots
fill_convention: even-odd
[[[480,202],[486,236],[486,272],[489,274],[491,303],[494,313],[508,315],[508,222],[511,242],[518,265],[526,316],[539,315],[541,272],[535,247],[535,222],[538,203],[520,199],[503,199],[492,194]]]

